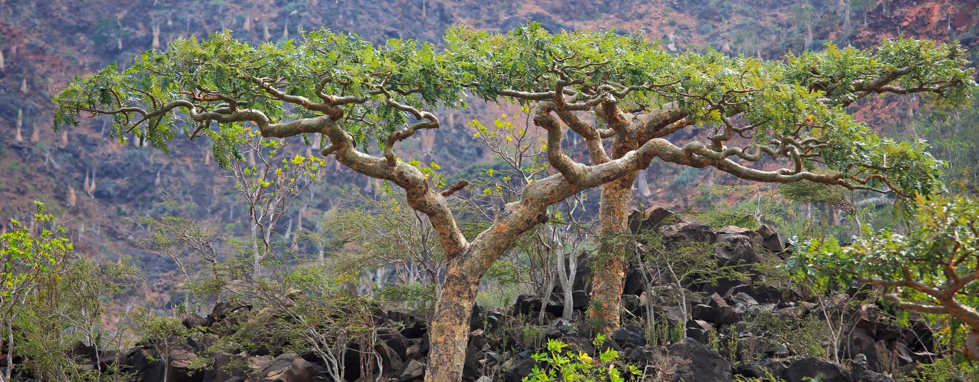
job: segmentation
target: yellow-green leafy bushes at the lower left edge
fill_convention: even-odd
[[[108,301],[138,273],[123,263],[71,259],[65,230],[42,203],[35,204],[34,228],[15,221],[15,230],[0,239],[0,335],[6,350],[23,357],[17,366],[41,380],[124,381],[127,373],[115,363],[87,368],[95,360],[77,359],[76,347],[101,352],[123,345],[122,328],[106,328],[103,318]]]

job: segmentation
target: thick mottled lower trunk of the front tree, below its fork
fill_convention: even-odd
[[[462,380],[466,343],[469,340],[469,318],[482,275],[467,272],[459,261],[449,262],[430,329],[432,347],[425,372],[426,382]]]

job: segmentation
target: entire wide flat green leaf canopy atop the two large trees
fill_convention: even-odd
[[[925,151],[927,146],[878,137],[843,106],[874,92],[925,92],[929,100],[962,105],[974,86],[970,71],[962,68],[962,48],[908,38],[873,50],[827,45],[819,53],[789,55],[787,63],[715,51],[674,55],[642,34],[552,34],[538,23],[506,33],[455,26],[444,40],[443,50],[400,39],[375,46],[323,29],[260,46],[235,40],[228,31],[203,41],[180,39],[163,53],[143,54],[124,70],[113,64],[77,78],[54,100],[55,126],[76,124],[80,112],[111,114],[120,140],[133,129],[141,142],[164,150],[182,129],[188,137],[210,136],[218,163],[226,167],[241,157],[238,139],[248,123],[319,115],[315,107],[284,101],[279,93],[339,107],[342,116],[331,116],[342,118],[338,123],[366,151],[384,148],[390,133],[421,119],[405,111],[408,107],[458,108],[466,94],[529,106],[531,100],[546,101],[535,95],[553,91],[555,84],[583,98],[611,86],[623,108],[676,103],[692,124],[730,130],[737,115],[754,133],[738,156],[779,152],[807,170],[824,163],[829,170],[862,176],[839,182],[881,190],[884,177],[905,194],[927,194],[943,187],[938,175],[943,163]],[[787,138],[815,146],[786,151]],[[525,146],[538,148],[536,142]]]

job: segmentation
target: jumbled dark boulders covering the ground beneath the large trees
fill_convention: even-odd
[[[662,293],[672,282],[638,266],[629,269],[624,290],[627,320],[623,328],[603,342],[583,325],[559,318],[565,302],[560,291],[544,301],[521,295],[506,309],[477,307],[470,325],[464,380],[517,382],[535,365],[532,356],[548,340],[560,340],[569,350],[598,358],[608,349],[619,361],[644,370],[650,381],[730,382],[735,378],[777,377],[803,382],[820,376],[823,382],[887,382],[891,375],[912,375],[920,363],[940,357],[937,333],[924,321],[899,325],[887,308],[868,302],[871,290],[852,288],[847,293],[821,295],[798,285],[780,284],[759,271],[779,263],[789,249],[768,226],[751,231],[737,227],[714,230],[699,222],[682,222],[661,208],[636,214],[635,229],[655,230],[672,248],[691,243],[712,245],[713,267],[736,266],[744,278],[710,283],[684,281],[686,293],[697,292],[692,309],[680,308],[675,298]],[[645,220],[640,221],[641,217]],[[669,218],[669,219],[668,219]],[[589,270],[584,261],[570,302],[576,318],[588,306]],[[659,298],[653,298],[653,295]],[[295,298],[295,296],[294,296]],[[538,316],[540,312],[542,316]],[[310,350],[284,351],[289,339],[248,344],[238,341],[249,327],[272,324],[275,309],[218,303],[207,317],[182,318],[186,337],[144,342],[118,352],[98,352],[79,345],[75,354],[89,369],[120,365],[137,380],[168,378],[173,382],[305,382],[331,380],[328,365]],[[651,318],[645,327],[640,318]],[[542,320],[538,320],[542,317]],[[288,318],[285,318],[288,319]],[[424,312],[376,310],[370,315],[372,348],[351,339],[336,355],[346,381],[421,381],[428,350],[428,318]],[[583,322],[577,319],[577,322]],[[828,323],[827,323],[828,322]],[[827,343],[828,333],[840,343]],[[270,334],[269,334],[270,335]],[[832,338],[832,336],[830,336]],[[337,338],[325,340],[343,341]],[[276,347],[283,345],[282,347]],[[215,349],[218,349],[215,351]],[[829,351],[830,361],[826,359]],[[835,353],[835,354],[834,354]],[[15,357],[15,361],[18,359]],[[342,374],[341,374],[342,373]],[[29,380],[21,375],[20,380]]]

